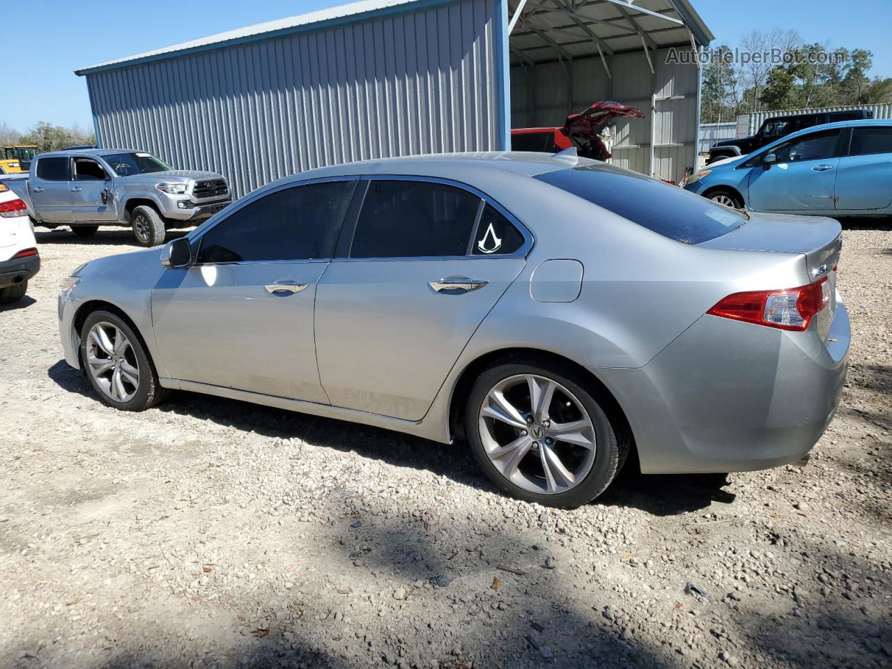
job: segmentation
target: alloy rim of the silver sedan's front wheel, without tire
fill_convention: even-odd
[[[100,322],[87,335],[87,368],[111,400],[127,402],[139,388],[139,363],[133,344],[120,327]]]

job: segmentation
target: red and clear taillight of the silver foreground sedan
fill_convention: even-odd
[[[823,277],[814,284],[779,291],[734,293],[719,301],[707,314],[802,332],[814,314],[830,304],[830,283]]]

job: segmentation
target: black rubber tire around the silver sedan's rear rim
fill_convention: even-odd
[[[594,428],[595,457],[591,470],[569,490],[557,493],[538,493],[529,491],[502,475],[491,462],[483,446],[480,433],[480,410],[483,401],[496,385],[512,376],[534,375],[544,376],[564,386],[574,395],[574,399],[582,404]],[[610,403],[599,401],[599,392],[591,389],[591,384],[579,372],[569,366],[552,362],[535,360],[503,360],[487,368],[476,379],[467,400],[465,413],[465,430],[468,442],[483,472],[501,491],[517,499],[536,502],[547,507],[574,508],[586,504],[598,497],[614,480],[623,466],[629,452],[630,440],[626,439],[622,429],[611,423],[605,407]],[[532,429],[531,429],[532,434]],[[530,451],[533,452],[533,451]],[[527,456],[528,457],[528,456]]]

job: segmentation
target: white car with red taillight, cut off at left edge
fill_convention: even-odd
[[[40,270],[40,255],[28,209],[0,183],[0,304],[21,300]]]

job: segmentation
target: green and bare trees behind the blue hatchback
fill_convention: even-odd
[[[721,45],[703,67],[701,120],[735,120],[753,111],[892,103],[892,78],[871,78],[867,49],[805,44],[795,30],[753,30],[737,49]],[[777,59],[739,54],[784,54]]]

